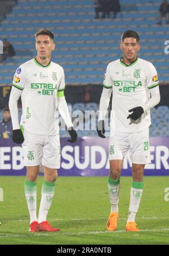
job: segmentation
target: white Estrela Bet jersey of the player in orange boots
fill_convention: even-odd
[[[127,119],[128,110],[143,106],[150,99],[150,88],[158,86],[157,71],[152,63],[137,58],[127,65],[121,59],[110,62],[104,79],[104,87],[112,88],[112,131],[136,133],[151,124],[150,110],[134,121]]]

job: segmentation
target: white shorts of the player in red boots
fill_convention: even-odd
[[[39,136],[24,130],[24,165],[28,167],[42,164],[51,169],[60,169],[60,137]]]

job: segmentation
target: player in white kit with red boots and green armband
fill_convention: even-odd
[[[57,110],[59,110],[71,139],[77,133],[69,116],[64,97],[63,67],[51,62],[55,49],[54,34],[41,29],[35,34],[37,57],[23,63],[15,72],[10,95],[13,140],[23,143],[24,164],[27,169],[25,197],[30,215],[30,232],[57,232],[46,220],[54,198],[57,169],[60,168],[60,138]],[[17,101],[21,96],[23,115],[19,125]],[[37,218],[37,176],[39,165],[44,167],[42,198]]]

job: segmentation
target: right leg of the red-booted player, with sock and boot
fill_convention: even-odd
[[[55,181],[57,179],[57,170],[44,167],[44,181],[42,185],[42,198],[39,208],[38,222],[39,230],[47,232],[57,232],[60,229],[53,228],[46,220],[48,211],[54,198]]]

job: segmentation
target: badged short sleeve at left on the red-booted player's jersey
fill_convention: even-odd
[[[23,91],[25,87],[25,78],[26,78],[25,68],[23,66],[18,67],[14,75],[12,86]]]

